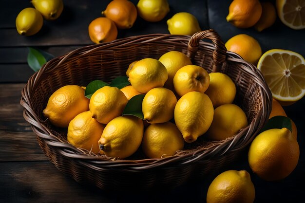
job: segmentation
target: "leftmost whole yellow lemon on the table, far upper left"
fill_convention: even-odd
[[[16,28],[19,35],[35,35],[41,29],[42,24],[43,18],[34,8],[23,9],[16,18]]]

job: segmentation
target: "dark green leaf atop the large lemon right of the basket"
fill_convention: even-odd
[[[286,116],[274,116],[270,118],[267,124],[261,129],[260,133],[267,130],[267,129],[282,129],[286,128],[292,132],[291,120]]]

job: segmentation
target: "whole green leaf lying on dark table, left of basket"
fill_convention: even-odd
[[[45,64],[47,61],[54,58],[53,55],[44,52],[39,49],[35,49],[33,47],[28,47],[29,53],[27,56],[28,65],[35,72],[39,71],[39,69]]]

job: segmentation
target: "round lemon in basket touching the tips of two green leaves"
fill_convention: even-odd
[[[104,86],[91,96],[89,109],[92,117],[102,124],[122,115],[128,99],[116,87]]]

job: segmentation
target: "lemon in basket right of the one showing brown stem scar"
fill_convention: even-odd
[[[232,103],[236,95],[236,87],[231,78],[223,73],[210,73],[210,85],[205,94],[210,97],[214,108]]]

